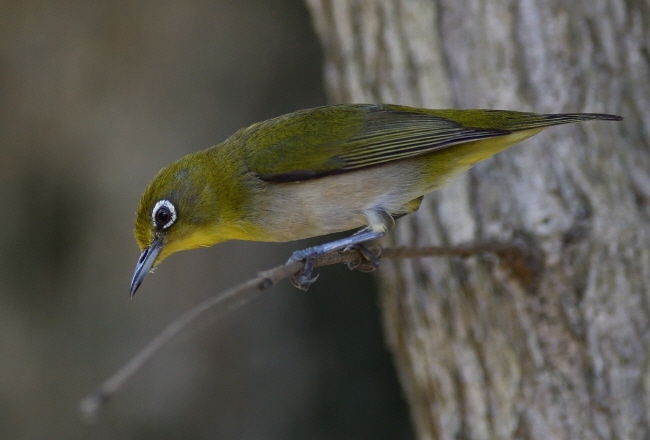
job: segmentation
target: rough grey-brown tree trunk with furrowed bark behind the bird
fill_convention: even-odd
[[[384,262],[418,438],[648,438],[649,3],[307,3],[333,102],[626,118],[550,128],[398,222],[399,245],[523,237],[543,261]]]

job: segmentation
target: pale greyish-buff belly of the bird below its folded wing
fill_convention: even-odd
[[[295,183],[269,184],[254,206],[265,241],[290,241],[368,225],[367,212],[405,213],[413,199],[435,188],[422,166],[400,161]]]

